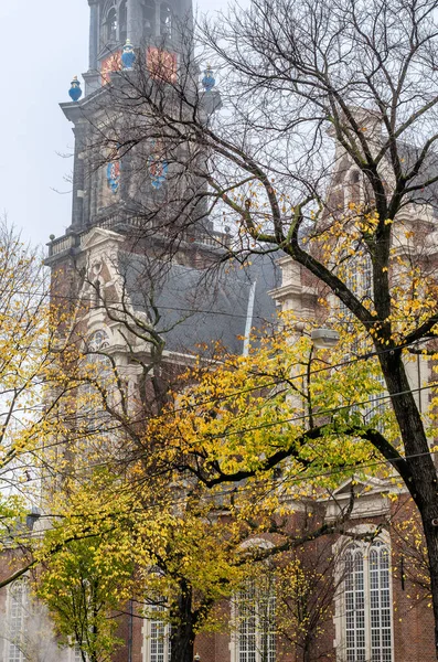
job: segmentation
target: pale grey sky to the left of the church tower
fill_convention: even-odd
[[[200,11],[226,0],[201,0]],[[0,0],[1,76],[0,212],[23,238],[45,244],[70,225],[71,125],[58,108],[70,100],[72,76],[88,57],[87,0]],[[65,192],[64,195],[56,191]]]

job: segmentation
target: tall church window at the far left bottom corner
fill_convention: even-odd
[[[8,588],[7,662],[23,662],[23,636],[25,632],[25,607],[28,581],[18,579]]]

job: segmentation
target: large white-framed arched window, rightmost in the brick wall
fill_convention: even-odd
[[[355,542],[343,554],[340,662],[393,662],[389,549]]]

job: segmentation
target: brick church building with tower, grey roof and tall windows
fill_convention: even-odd
[[[128,388],[139,377],[127,352],[127,310],[150,316],[164,338],[167,361],[184,364],[199,343],[221,341],[236,353],[246,351],[242,338],[254,327],[274,322],[276,311],[293,310],[312,318],[317,293],[301,267],[282,257],[260,256],[245,269],[225,273],[215,266],[229,239],[205,216],[202,203],[191,210],[193,223],[180,231],[169,216],[181,179],[151,142],[150,156],[120,154],[116,148],[105,162],[96,156],[99,122],[106,121],[110,103],[108,77],[129,71],[132,47],[153,74],[157,62],[173,76],[188,47],[177,24],[190,28],[191,0],[88,0],[90,6],[89,70],[84,74],[85,94],[72,84],[72,102],[61,104],[75,136],[72,222],[49,245],[52,291],[75,314],[77,302],[90,302],[81,320],[85,342],[105,350],[124,367]],[[128,74],[129,75],[129,74]],[[211,76],[211,74],[209,74]],[[214,85],[214,82],[213,82]],[[205,113],[220,108],[220,93],[204,83],[210,97]],[[108,152],[107,152],[108,153]],[[142,166],[138,163],[141,161]],[[343,168],[338,182],[342,194],[352,195],[354,169]],[[172,192],[173,189],[173,192]],[[178,193],[178,191],[180,193]],[[348,199],[344,200],[344,204]],[[167,215],[168,214],[168,215]],[[420,218],[427,224],[427,217]],[[53,228],[56,232],[56,227]],[[402,239],[400,239],[402,241]],[[157,266],[158,265],[158,266]],[[214,278],[209,277],[214,271]],[[151,299],[153,284],[153,300]],[[118,301],[108,314],[105,301]],[[130,352],[143,355],[145,339],[132,334]],[[413,364],[413,385],[420,385],[429,371],[418,359]],[[131,384],[131,386],[129,386]],[[419,398],[426,398],[418,392]],[[424,401],[427,406],[426,399]],[[357,490],[357,488],[356,488]],[[372,543],[330,540],[330,553],[346,567],[323,627],[303,650],[273,632],[265,632],[258,609],[245,609],[245,591],[236,598],[229,617],[239,611],[238,626],[229,632],[200,636],[201,662],[432,662],[435,658],[432,612],[426,592],[409,574],[399,536],[389,521],[410,515],[407,494],[376,478],[360,487],[351,515],[352,531],[380,528]],[[350,499],[350,484],[342,484],[332,499],[318,504],[329,522]],[[407,513],[407,514],[406,514]],[[397,538],[397,540],[395,540]],[[321,543],[322,544],[322,543]],[[328,544],[327,541],[323,544]],[[316,552],[317,553],[317,552]],[[0,573],[8,572],[7,559]],[[333,568],[333,573],[336,569]],[[270,598],[269,598],[270,599]],[[274,605],[275,596],[271,596]],[[133,618],[136,616],[136,618]],[[169,637],[156,621],[127,615],[120,621],[125,645],[114,662],[168,662]],[[266,619],[265,619],[266,626]],[[0,589],[0,662],[78,662],[76,648],[60,649],[44,609],[31,604],[25,581]],[[178,661],[177,661],[178,662]]]

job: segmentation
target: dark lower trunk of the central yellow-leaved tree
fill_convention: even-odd
[[[171,662],[193,662],[195,619],[192,613],[192,589],[184,580],[180,581],[180,586],[178,604],[171,615]]]

